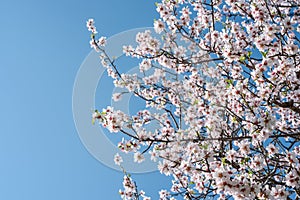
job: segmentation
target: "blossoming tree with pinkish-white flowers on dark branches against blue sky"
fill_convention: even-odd
[[[123,134],[118,146],[136,162],[150,153],[173,177],[162,200],[299,199],[300,1],[162,0],[156,10],[161,39],[146,31],[123,48],[140,74],[122,73],[87,22],[115,86],[145,102],[133,116],[107,107],[93,119]],[[124,173],[121,196],[150,199]]]

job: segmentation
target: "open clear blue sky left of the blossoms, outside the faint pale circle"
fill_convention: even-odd
[[[122,173],[78,137],[72,89],[90,52],[86,20],[107,37],[152,26],[154,2],[1,1],[0,199],[119,199]],[[158,173],[135,177],[150,194],[165,184]]]

